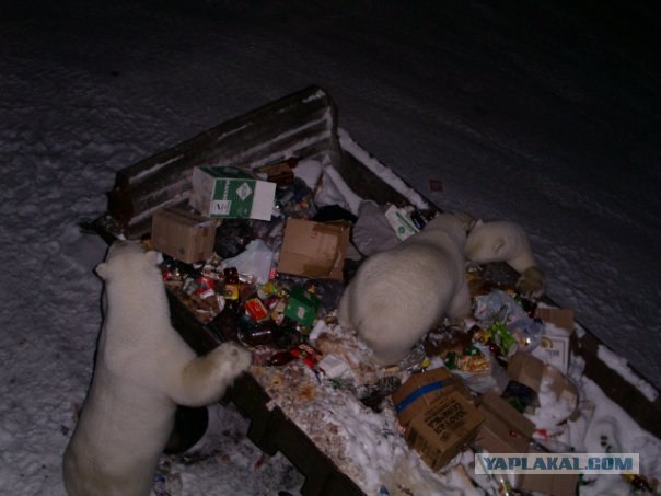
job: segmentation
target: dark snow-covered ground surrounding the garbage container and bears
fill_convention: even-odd
[[[0,493],[62,494],[105,249],[77,223],[115,172],[313,83],[441,208],[521,222],[549,296],[659,388],[659,18],[636,5],[3,2]],[[186,494],[300,486],[216,412],[221,451],[177,469]]]

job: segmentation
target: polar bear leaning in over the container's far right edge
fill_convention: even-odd
[[[466,239],[466,258],[476,264],[506,262],[521,276],[518,289],[527,296],[544,293],[544,273],[535,257],[523,227],[509,220],[477,220]]]

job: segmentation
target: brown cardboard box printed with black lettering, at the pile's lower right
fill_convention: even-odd
[[[473,442],[483,422],[483,415],[463,394],[451,391],[416,416],[404,438],[431,470],[438,471]]]

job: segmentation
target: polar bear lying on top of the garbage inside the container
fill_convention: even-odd
[[[394,364],[443,316],[471,311],[465,276],[466,230],[440,214],[398,246],[368,257],[338,307],[345,328],[353,328],[374,359]]]

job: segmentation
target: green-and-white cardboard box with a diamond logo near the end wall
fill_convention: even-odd
[[[228,166],[193,170],[189,205],[211,218],[270,220],[276,184]]]

